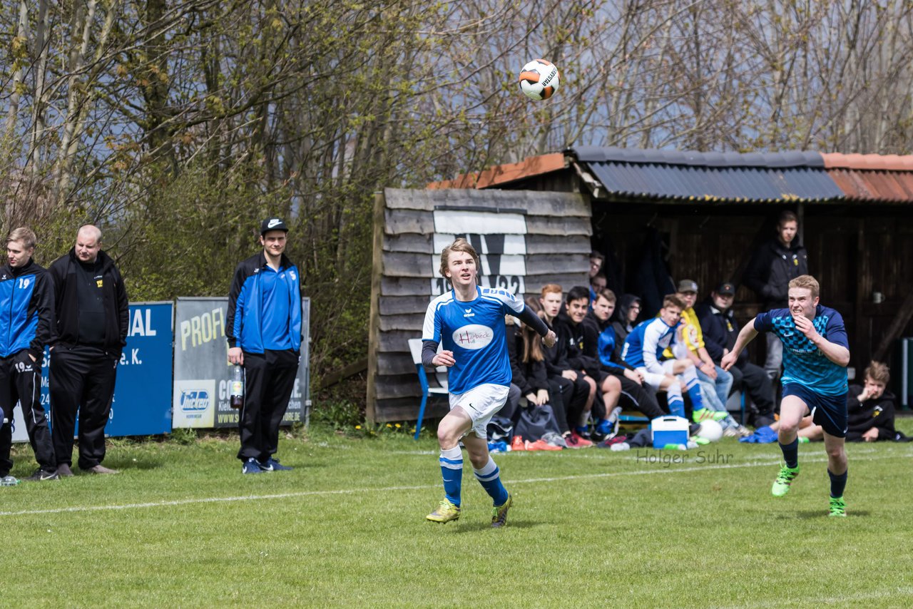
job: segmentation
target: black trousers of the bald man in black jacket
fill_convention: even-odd
[[[73,464],[73,430],[79,413],[79,467],[105,458],[105,425],[111,412],[117,358],[98,347],[58,344],[51,352],[48,383],[51,436],[58,464]]]

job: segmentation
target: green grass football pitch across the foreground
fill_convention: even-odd
[[[848,446],[846,519],[826,515],[821,444],[784,499],[775,444],[498,455],[503,530],[468,467],[462,518],[425,521],[442,497],[430,438],[312,429],[282,440],[294,471],[247,477],[235,452],[113,441],[121,475],[0,488],[0,605],[913,605],[911,444]]]

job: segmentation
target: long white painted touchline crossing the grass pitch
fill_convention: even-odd
[[[878,455],[879,459],[890,459],[909,457],[909,455]],[[803,463],[820,463],[826,461],[826,457],[808,457],[803,458]],[[872,461],[875,457],[856,458],[857,461]],[[509,480],[510,485],[515,484],[536,484],[540,482],[564,482],[567,480],[586,480],[593,478],[617,478],[621,476],[641,476],[644,474],[683,474],[695,471],[708,471],[712,469],[738,469],[740,467],[770,467],[779,465],[781,461],[749,461],[748,463],[726,464],[726,465],[702,465],[698,467],[656,467],[660,464],[654,464],[652,469],[637,469],[635,471],[617,471],[603,472],[599,474],[574,474],[571,476],[556,476],[551,478],[526,478],[521,480]],[[428,490],[440,488],[439,484],[418,485],[412,487],[382,487],[382,488],[340,488],[337,490],[301,490],[293,493],[276,493],[273,495],[239,495],[235,497],[203,497],[194,499],[173,499],[171,501],[149,501],[146,503],[123,503],[121,505],[107,506],[73,506],[70,508],[49,508],[49,509],[22,509],[19,511],[0,511],[0,517],[6,516],[35,516],[40,514],[68,514],[89,511],[108,511],[117,509],[144,509],[144,508],[168,508],[173,506],[193,505],[195,503],[232,503],[236,501],[262,501],[268,499],[291,499],[296,497],[323,497],[331,495],[352,495],[353,493],[370,493],[370,492],[394,492],[399,490]]]

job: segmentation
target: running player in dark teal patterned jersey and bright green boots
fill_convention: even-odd
[[[819,304],[820,287],[811,275],[789,283],[789,309],[761,313],[745,324],[732,351],[721,362],[726,370],[759,332],[773,332],[783,343],[783,398],[778,439],[786,465],[773,481],[771,493],[784,496],[799,475],[799,439],[803,416],[812,414],[824,429],[827,474],[831,478],[831,516],[845,516],[846,504],[846,365],[850,362],[844,319]]]

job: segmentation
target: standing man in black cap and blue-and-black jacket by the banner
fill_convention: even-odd
[[[237,457],[245,474],[291,469],[274,457],[301,359],[301,284],[284,254],[288,233],[282,218],[264,220],[263,251],[237,266],[228,293],[228,362],[244,366]]]

